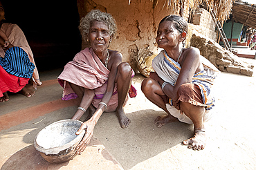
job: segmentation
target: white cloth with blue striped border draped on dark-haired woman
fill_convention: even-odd
[[[200,59],[204,70],[194,74],[191,83],[199,86],[205,109],[210,110],[214,106],[214,97],[210,95],[210,87],[214,84],[214,79],[217,73],[219,73],[219,70],[203,56],[200,56]],[[175,62],[174,59],[170,58],[165,50],[162,50],[161,53],[153,59],[152,68],[161,79],[175,86],[181,71],[181,66],[178,62]]]

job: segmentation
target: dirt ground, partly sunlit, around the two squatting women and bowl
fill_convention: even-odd
[[[256,66],[255,59],[246,61]],[[217,77],[216,106],[205,124],[208,139],[203,151],[181,144],[192,137],[191,124],[174,122],[156,127],[154,119],[165,112],[140,91],[145,77],[138,74],[133,79],[138,95],[125,106],[131,119],[129,128],[121,129],[114,113],[104,113],[82,155],[64,164],[49,164],[33,147],[35,135],[52,122],[70,118],[77,109],[71,102],[60,101],[62,88],[55,80],[60,72],[41,73],[45,85],[39,86],[35,96],[11,95],[9,102],[0,104],[1,170],[256,169],[255,73],[253,77],[230,73]],[[7,120],[10,122],[4,122]]]

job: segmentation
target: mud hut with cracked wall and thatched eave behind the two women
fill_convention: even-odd
[[[199,6],[204,6],[206,10],[214,10],[217,18],[223,22],[230,15],[232,0],[77,0],[80,18],[93,9],[113,15],[118,24],[118,33],[109,48],[119,50],[123,55],[123,62],[129,62],[134,69],[137,67],[140,73],[149,72],[147,69],[143,70],[145,66],[142,62],[146,62],[144,57],[158,53],[155,38],[159,21],[166,15],[172,14],[180,15],[190,21],[193,12],[198,10]],[[205,24],[207,25],[209,24]],[[205,28],[199,28],[201,26],[192,27],[194,31],[199,30],[203,35],[210,38],[213,36],[216,40],[214,23],[211,26],[213,28],[207,29],[206,32]],[[189,45],[191,37],[192,33],[187,38],[186,46]],[[83,42],[82,48],[85,46],[86,42]],[[150,61],[149,59],[149,63]]]

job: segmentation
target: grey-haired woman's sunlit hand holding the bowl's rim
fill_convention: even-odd
[[[85,129],[84,138],[82,138],[81,142],[76,147],[76,149],[77,149],[76,153],[78,155],[81,155],[81,153],[84,151],[84,149],[89,145],[91,137],[93,137],[94,126],[95,126],[95,123],[93,123],[91,120],[88,120],[88,121],[84,122],[80,126],[80,129],[78,129],[78,131],[75,133],[75,134],[79,135],[82,132],[82,130]]]

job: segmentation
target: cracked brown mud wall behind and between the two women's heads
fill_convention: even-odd
[[[80,17],[93,9],[111,13],[118,24],[118,32],[109,48],[120,51],[123,62],[131,62],[131,58],[145,44],[157,52],[155,39],[158,23],[171,14],[162,2],[159,1],[156,8],[153,8],[149,0],[131,0],[130,5],[128,0],[77,0],[77,7]],[[82,45],[84,47],[85,44]]]

